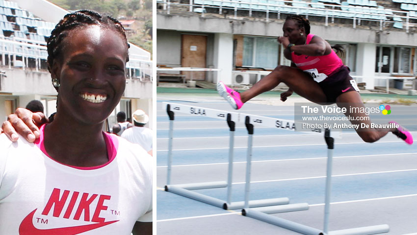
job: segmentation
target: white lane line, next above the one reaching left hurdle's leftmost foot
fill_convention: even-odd
[[[397,153],[397,154],[371,154],[371,155],[356,155],[356,156],[340,156],[340,157],[333,157],[333,158],[349,158],[349,157],[380,157],[380,156],[398,156],[398,155],[406,155],[406,154],[417,154],[417,152],[413,153]],[[252,161],[252,163],[259,163],[259,162],[276,162],[276,161],[303,161],[303,160],[318,160],[318,159],[327,159],[327,157],[312,157],[312,158],[291,158],[291,159],[275,159],[275,160],[259,160],[259,161]],[[246,163],[246,161],[236,161],[234,163]],[[187,164],[187,165],[173,165],[172,167],[183,167],[183,166],[208,166],[208,165],[226,165],[229,162],[220,162],[220,163],[205,163],[205,164]],[[166,168],[168,166],[157,166],[156,168]]]

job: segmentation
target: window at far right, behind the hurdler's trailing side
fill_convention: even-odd
[[[375,73],[412,74],[412,49],[377,47]]]

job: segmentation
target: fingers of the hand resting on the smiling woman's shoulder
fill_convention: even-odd
[[[6,132],[8,136],[10,136],[10,139],[12,141],[14,140],[14,138],[12,138],[12,133],[16,132],[22,135],[28,142],[35,141],[36,136],[39,137],[39,129],[36,127],[35,124],[33,124],[32,121],[32,112],[28,112],[30,113],[30,116],[28,116],[27,112],[24,112],[23,114],[20,113],[23,116],[19,117],[17,115],[17,113],[19,112],[16,109],[16,114],[10,114],[7,117],[7,121],[3,123],[3,125],[5,124],[3,126],[3,130],[4,132]]]

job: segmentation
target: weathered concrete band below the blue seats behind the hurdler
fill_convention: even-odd
[[[198,16],[156,15],[157,29],[195,32],[232,33],[277,37],[282,35],[284,21],[248,21]],[[417,34],[405,31],[376,31],[362,28],[314,25],[311,32],[326,40],[357,43],[382,43],[417,46]]]

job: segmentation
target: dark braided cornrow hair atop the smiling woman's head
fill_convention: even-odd
[[[125,28],[111,16],[102,16],[100,13],[90,10],[79,10],[64,16],[52,30],[48,39],[48,70],[51,72],[53,61],[62,55],[62,40],[67,36],[68,31],[77,27],[99,25],[104,28],[114,29],[120,33],[127,47],[129,43],[126,37]],[[126,62],[129,61],[129,54]]]

